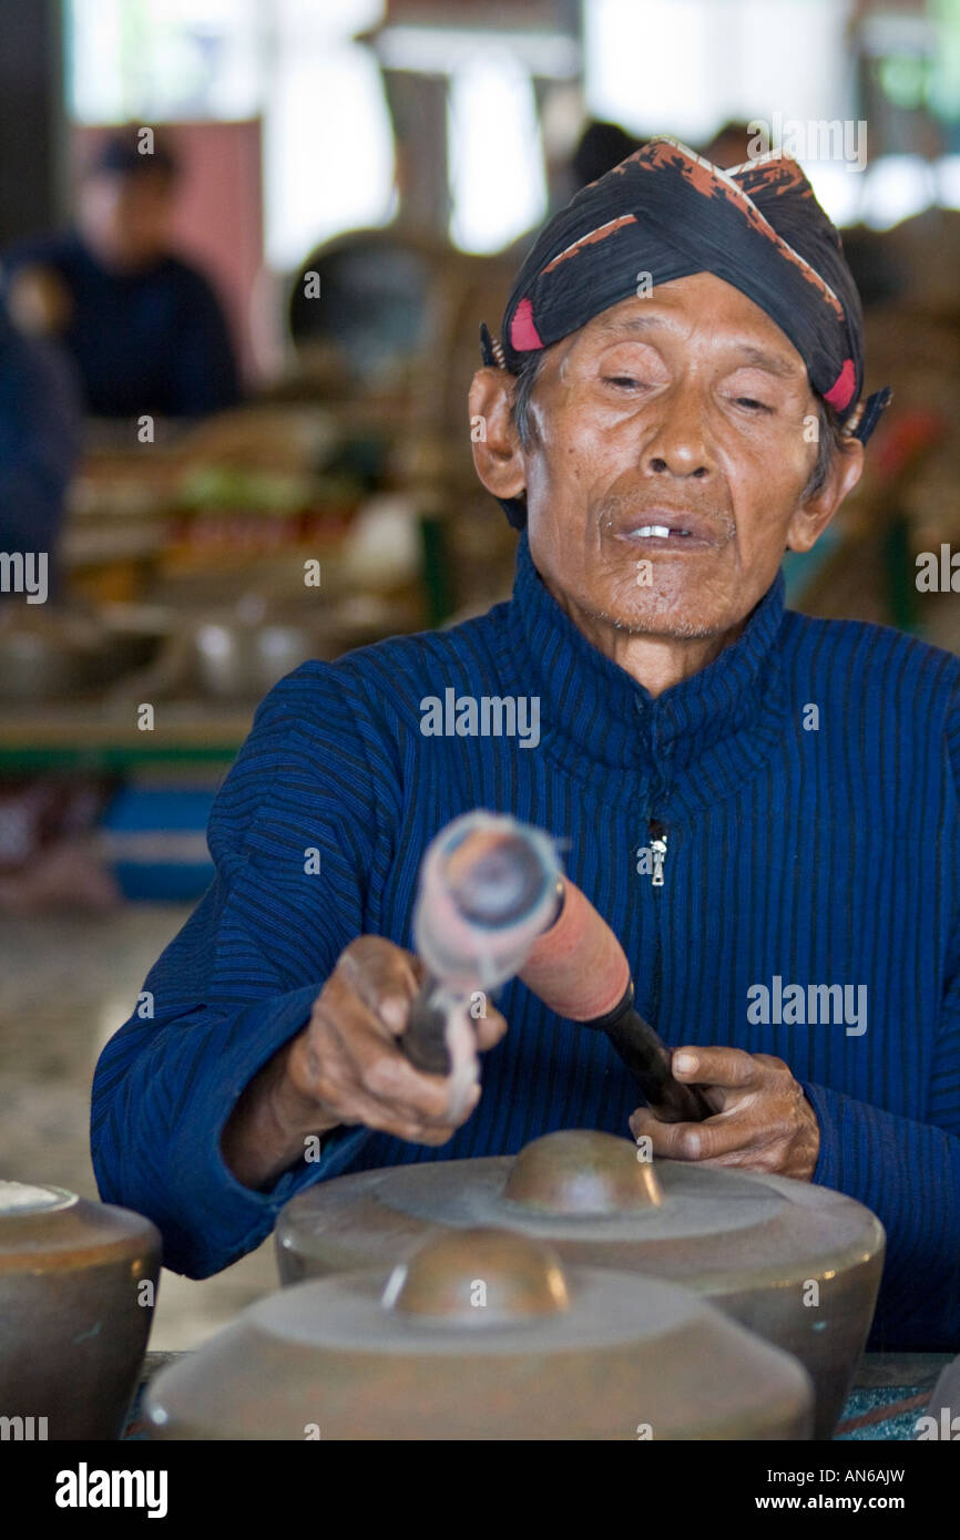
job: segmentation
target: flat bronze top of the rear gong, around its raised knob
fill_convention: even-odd
[[[630,1141],[607,1138],[635,1160]],[[877,1217],[829,1187],[658,1158],[661,1207],[558,1218],[496,1197],[515,1160],[424,1161],[317,1183],[291,1198],[277,1218],[282,1281],[393,1263],[438,1229],[472,1224],[536,1235],[570,1261],[669,1277],[707,1295],[787,1287],[883,1258]],[[676,1195],[681,1206],[672,1206]],[[718,1218],[718,1198],[741,1207],[740,1220]],[[686,1224],[676,1234],[673,1217],[681,1209]],[[697,1210],[709,1218],[700,1230]]]

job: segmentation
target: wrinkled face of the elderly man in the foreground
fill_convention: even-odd
[[[567,607],[618,630],[730,631],[784,548],[807,550],[832,511],[800,505],[817,459],[803,359],[707,273],[623,300],[550,348],[530,422],[535,565]]]

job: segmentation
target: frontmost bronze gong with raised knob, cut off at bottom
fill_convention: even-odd
[[[260,1300],[143,1411],[156,1438],[803,1438],[811,1384],[686,1289],[467,1229]]]

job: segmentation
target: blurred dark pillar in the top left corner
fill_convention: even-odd
[[[0,245],[63,220],[60,0],[0,0]]]

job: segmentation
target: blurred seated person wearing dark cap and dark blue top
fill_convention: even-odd
[[[159,139],[111,134],[82,180],[76,228],[3,256],[14,322],[72,354],[94,417],[202,417],[240,397],[220,303],[171,248],[176,185]]]

